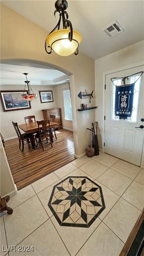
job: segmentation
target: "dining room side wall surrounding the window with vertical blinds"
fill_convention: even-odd
[[[65,120],[65,112],[64,112],[63,90],[67,88],[69,88],[69,83],[59,84],[54,86],[55,101],[56,101],[56,107],[61,108],[62,127],[72,130],[73,129],[72,121]]]

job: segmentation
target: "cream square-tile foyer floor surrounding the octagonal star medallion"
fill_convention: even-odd
[[[53,187],[69,176],[88,177],[102,188],[106,208],[88,228],[60,226],[48,206]],[[93,194],[95,200],[98,195]],[[0,217],[1,256],[118,256],[144,207],[144,170],[104,153],[85,156],[21,189],[8,206],[12,215]],[[92,210],[85,209],[87,215]],[[57,211],[63,214],[63,209]],[[78,208],[76,212],[80,214]],[[78,221],[76,212],[73,222]],[[16,251],[8,253],[10,245]],[[34,251],[20,252],[20,246],[33,246]]]

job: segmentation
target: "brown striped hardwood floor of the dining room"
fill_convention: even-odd
[[[5,152],[17,189],[20,190],[34,181],[46,176],[74,160],[73,132],[57,130],[53,148],[49,141],[43,142],[44,151],[38,143],[36,149],[31,144],[24,144],[24,152],[19,149],[19,140],[5,142]]]

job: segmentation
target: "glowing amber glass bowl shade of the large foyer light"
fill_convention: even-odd
[[[52,32],[47,37],[47,44],[59,55],[68,56],[75,52],[82,41],[82,36],[76,30],[73,30],[73,40],[68,39],[69,29],[60,29]],[[61,40],[59,40],[61,39]],[[58,41],[56,41],[58,40]],[[76,42],[76,41],[77,42]]]

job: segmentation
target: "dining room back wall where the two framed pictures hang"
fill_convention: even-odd
[[[21,85],[3,85],[1,86],[1,90],[22,90],[24,89]],[[55,107],[55,94],[54,94],[54,86],[32,86],[33,92],[38,93],[37,99],[31,101],[31,109],[23,109],[23,110],[16,110],[16,111],[8,111],[4,112],[2,108],[2,104],[0,103],[0,116],[1,116],[1,134],[3,135],[4,139],[12,138],[16,136],[16,132],[12,125],[12,121],[17,122],[18,124],[23,124],[24,117],[35,115],[36,121],[40,121],[43,119],[42,109],[46,108],[54,108]],[[44,90],[52,90],[53,91],[53,99],[54,102],[48,103],[41,103],[40,102],[40,95],[39,91]],[[23,133],[23,132],[22,132]]]

